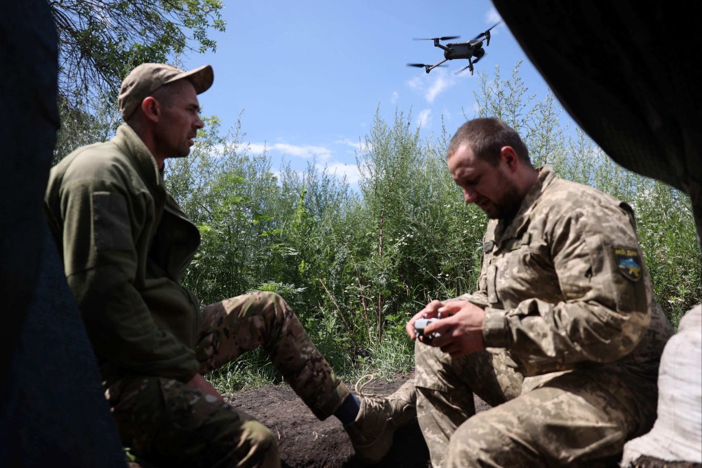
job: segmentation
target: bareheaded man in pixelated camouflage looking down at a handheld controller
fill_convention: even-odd
[[[417,412],[435,467],[615,466],[656,417],[672,328],[633,211],[534,168],[498,119],[453,136],[449,170],[490,219],[475,293],[432,301],[416,341]],[[473,395],[493,408],[475,414]]]

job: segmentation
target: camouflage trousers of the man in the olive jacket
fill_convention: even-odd
[[[201,312],[195,349],[201,374],[262,346],[319,419],[333,415],[350,393],[279,295],[241,295]],[[131,377],[106,393],[122,442],[147,461],[168,467],[280,466],[270,429],[184,382]]]

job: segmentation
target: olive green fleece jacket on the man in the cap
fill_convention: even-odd
[[[128,375],[187,382],[197,372],[197,297],[180,278],[197,227],[126,124],[51,170],[45,214],[106,385]]]

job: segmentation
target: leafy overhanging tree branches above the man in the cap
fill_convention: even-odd
[[[58,33],[59,95],[81,107],[91,93],[117,97],[135,65],[215,51],[221,0],[51,0]]]

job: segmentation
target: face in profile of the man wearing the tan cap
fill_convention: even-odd
[[[161,91],[161,90],[159,90]],[[161,95],[162,114],[157,127],[156,145],[165,158],[183,158],[190,154],[197,131],[204,127],[200,119],[200,104],[190,81],[176,81]]]

